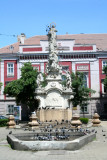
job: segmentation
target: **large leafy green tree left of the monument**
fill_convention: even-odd
[[[33,111],[37,103],[35,100],[37,75],[38,72],[33,69],[31,63],[25,63],[21,68],[21,78],[8,83],[4,89],[4,94],[15,97],[17,104],[25,104]]]

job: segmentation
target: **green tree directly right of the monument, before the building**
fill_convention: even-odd
[[[73,99],[71,99],[73,106],[74,107],[77,107],[77,105],[80,105],[80,107],[87,106],[91,98],[90,94],[95,93],[95,91],[84,85],[83,72],[76,72],[75,74],[72,72],[71,79],[72,79],[72,91],[74,95]]]

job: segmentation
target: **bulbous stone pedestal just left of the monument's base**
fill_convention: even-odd
[[[36,114],[32,114],[30,117],[30,122],[28,123],[29,125],[29,130],[34,130],[36,128],[38,128],[39,123],[37,122],[37,116]]]

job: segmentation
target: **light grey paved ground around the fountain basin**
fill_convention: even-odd
[[[107,160],[107,121],[96,127],[96,140],[77,151],[16,151],[6,141],[10,130],[0,128],[0,160]],[[105,132],[102,132],[104,130]],[[13,130],[13,133],[28,131]],[[105,136],[104,136],[105,135]]]

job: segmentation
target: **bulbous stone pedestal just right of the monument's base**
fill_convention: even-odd
[[[71,128],[80,128],[81,121],[79,120],[80,116],[78,114],[74,114],[72,117]]]

